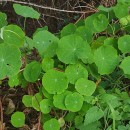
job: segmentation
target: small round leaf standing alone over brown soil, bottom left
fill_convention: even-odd
[[[15,112],[12,116],[11,116],[11,124],[18,128],[18,127],[22,127],[25,124],[25,115],[23,112]]]

